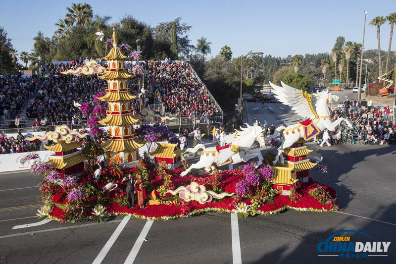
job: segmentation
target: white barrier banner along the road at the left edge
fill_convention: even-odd
[[[21,163],[21,158],[33,153],[37,153],[40,156],[41,161],[48,161],[49,156],[55,154],[53,151],[38,151],[0,155],[0,173],[30,169],[31,162],[25,161],[24,163]]]

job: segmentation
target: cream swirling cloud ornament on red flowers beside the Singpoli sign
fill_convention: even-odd
[[[199,185],[197,182],[193,181],[188,186],[180,186],[176,190],[169,190],[167,193],[172,195],[179,194],[179,197],[186,202],[197,201],[199,204],[203,205],[205,203],[212,202],[213,198],[223,199],[226,196],[233,196],[234,193],[221,193],[217,194],[213,191],[206,191],[205,186]]]

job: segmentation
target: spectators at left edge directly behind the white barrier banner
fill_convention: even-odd
[[[1,154],[13,154],[13,153],[21,153],[21,152],[29,152],[29,151],[37,151],[40,149],[41,142],[39,140],[35,140],[33,142],[25,141],[25,137],[18,133],[15,137],[7,137],[3,134],[0,135],[0,149]]]

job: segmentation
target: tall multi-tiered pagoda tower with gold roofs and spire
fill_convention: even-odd
[[[125,66],[127,58],[117,47],[113,30],[113,48],[103,58],[108,61],[108,68],[103,75],[98,75],[99,78],[107,81],[106,94],[98,99],[108,103],[107,115],[99,123],[108,126],[109,136],[101,147],[108,153],[113,164],[138,160],[138,150],[145,144],[134,133],[133,125],[141,119],[133,115],[133,109],[130,107],[130,101],[137,96],[132,95],[128,88],[127,81],[133,75],[127,72]]]

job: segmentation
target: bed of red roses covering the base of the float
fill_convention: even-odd
[[[134,173],[136,168],[124,170],[124,174]],[[187,186],[192,181],[196,181],[199,184],[202,184],[206,187],[207,190],[212,190],[216,187],[216,192],[228,192],[228,193],[236,193],[236,184],[241,181],[245,176],[240,169],[226,170],[220,172],[219,175],[201,175],[201,176],[185,176],[180,178],[180,172],[183,171],[183,168],[179,168],[176,170],[166,170],[166,173],[172,175],[170,178],[170,182],[172,185],[172,189],[175,190],[179,186]],[[145,201],[145,208],[140,209],[137,206],[135,208],[128,208],[125,203],[126,193],[125,187],[126,184],[122,183],[122,179],[118,176],[113,179],[109,179],[109,177],[103,177],[103,180],[99,180],[97,183],[92,183],[92,175],[85,174],[80,176],[78,180],[78,185],[84,185],[87,183],[92,183],[91,188],[98,188],[101,190],[107,182],[111,180],[113,183],[118,184],[118,188],[112,192],[105,192],[103,197],[106,198],[106,202],[99,201],[97,197],[94,195],[87,195],[84,199],[79,201],[77,204],[73,204],[73,207],[70,207],[70,203],[67,198],[67,193],[65,190],[57,185],[46,185],[45,181],[42,181],[42,192],[43,198],[47,197],[47,200],[44,199],[47,205],[52,207],[52,211],[49,212],[48,217],[54,220],[58,220],[61,222],[64,221],[77,221],[77,220],[87,220],[92,219],[92,211],[96,205],[102,205],[106,213],[103,214],[104,217],[114,216],[114,215],[131,215],[136,218],[141,219],[150,219],[150,220],[168,220],[175,219],[180,217],[191,217],[193,215],[198,215],[205,212],[237,212],[236,206],[238,203],[246,203],[250,205],[251,199],[246,197],[239,197],[235,194],[233,197],[228,197],[222,200],[216,200],[206,203],[199,204],[196,201],[185,202],[180,199],[177,195],[172,196],[167,193],[165,196],[161,196],[156,189],[163,184],[163,179],[156,175],[155,169],[148,170],[149,175],[148,179],[150,180],[150,189],[147,189],[148,199]],[[309,192],[315,188],[320,188],[327,193],[329,200],[332,202],[328,203],[320,203],[317,198],[313,197]],[[156,198],[158,200],[177,200],[175,204],[171,205],[149,205],[148,200],[152,199],[150,194],[154,191]],[[220,191],[217,191],[220,190]],[[263,205],[258,207],[253,215],[256,214],[274,214],[285,210],[297,210],[297,211],[336,211],[338,209],[336,199],[336,192],[334,189],[316,183],[312,179],[307,183],[301,183],[296,187],[296,194],[298,194],[297,199],[291,199],[289,196],[280,196],[275,195],[273,197],[273,203],[265,202]],[[48,199],[50,197],[50,201]],[[103,197],[101,199],[103,199]],[[330,198],[331,197],[331,198]],[[323,197],[322,197],[323,198]],[[124,200],[124,203],[122,201]],[[294,200],[294,202],[292,202]],[[137,201],[137,199],[135,199]]]

